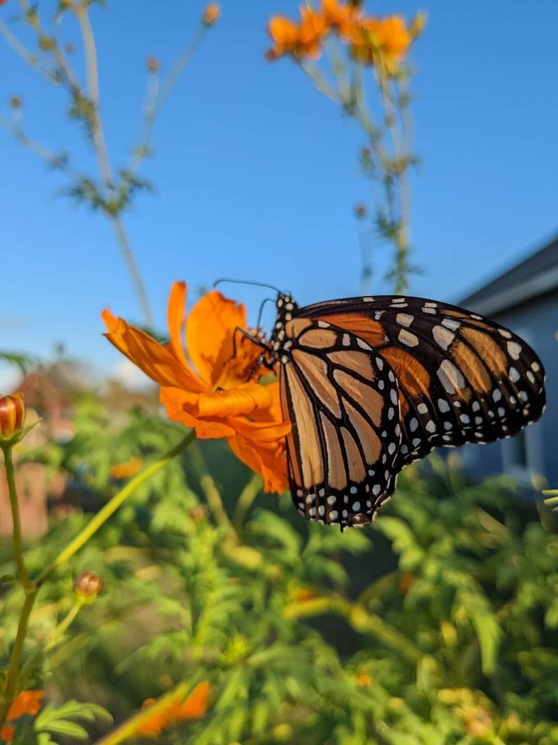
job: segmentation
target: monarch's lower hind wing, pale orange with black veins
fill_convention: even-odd
[[[385,359],[323,321],[286,324],[278,361],[289,481],[307,519],[371,522],[395,488],[402,431],[397,379]]]

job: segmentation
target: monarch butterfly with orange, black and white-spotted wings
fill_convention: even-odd
[[[298,308],[278,293],[264,361],[292,424],[289,484],[305,518],[373,521],[432,448],[512,437],[545,408],[533,349],[487,318],[419,297]]]

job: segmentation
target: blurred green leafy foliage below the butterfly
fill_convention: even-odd
[[[29,547],[33,574],[135,459],[181,437],[153,405],[115,416],[94,393],[77,396],[74,426],[65,443],[19,446],[20,462],[39,460],[72,486]],[[304,522],[288,493],[260,493],[224,443],[194,443],[42,589],[25,685],[120,721],[179,681],[208,680],[205,717],[158,735],[162,744],[550,745],[558,538],[539,509],[507,478],[468,484],[458,456],[434,455],[405,469],[371,530],[341,535]],[[12,574],[7,541],[0,551],[0,575]],[[83,570],[103,589],[76,612]],[[5,657],[21,591],[4,584],[2,601]]]

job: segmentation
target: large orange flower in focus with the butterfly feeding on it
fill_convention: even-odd
[[[267,370],[258,367],[260,348],[238,330],[246,329],[246,308],[211,291],[196,302],[186,322],[185,305],[186,285],[175,282],[167,344],[108,310],[103,311],[106,337],[161,386],[170,419],[194,428],[197,437],[225,437],[234,454],[263,477],[266,491],[283,492],[290,425],[280,413],[278,383],[257,382]]]

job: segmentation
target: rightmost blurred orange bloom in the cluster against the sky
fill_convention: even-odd
[[[401,16],[366,18],[353,25],[350,52],[363,64],[373,64],[382,55],[389,72],[405,57],[413,37]]]

